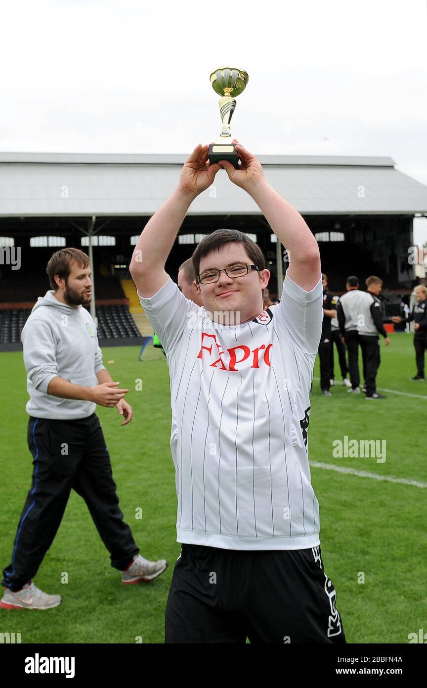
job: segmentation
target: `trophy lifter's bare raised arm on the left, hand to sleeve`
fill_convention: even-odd
[[[168,281],[165,263],[189,206],[214,181],[220,169],[207,159],[209,144],[198,144],[185,161],[178,186],[143,228],[130,262],[141,297],[150,298]]]

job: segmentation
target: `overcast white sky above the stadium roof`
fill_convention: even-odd
[[[255,155],[389,155],[427,184],[427,0],[5,4],[0,151],[189,153],[229,65]]]

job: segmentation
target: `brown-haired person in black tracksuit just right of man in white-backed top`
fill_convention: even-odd
[[[378,394],[376,390],[376,376],[381,363],[378,333],[384,337],[386,346],[390,344],[390,339],[382,323],[381,301],[378,299],[378,295],[382,291],[382,279],[371,275],[366,280],[366,286],[368,288],[366,293],[369,294],[371,299],[371,301],[368,301],[370,317],[365,314],[365,318],[358,325],[358,338],[362,350],[363,377],[365,379],[366,398],[381,399],[384,398],[383,395]]]

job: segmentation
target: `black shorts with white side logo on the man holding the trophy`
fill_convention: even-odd
[[[165,643],[345,643],[321,548],[181,546]]]

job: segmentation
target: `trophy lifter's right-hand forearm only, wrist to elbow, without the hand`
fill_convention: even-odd
[[[251,196],[281,244],[289,251],[290,261],[303,261],[319,255],[317,241],[303,217],[266,180],[251,191]]]

